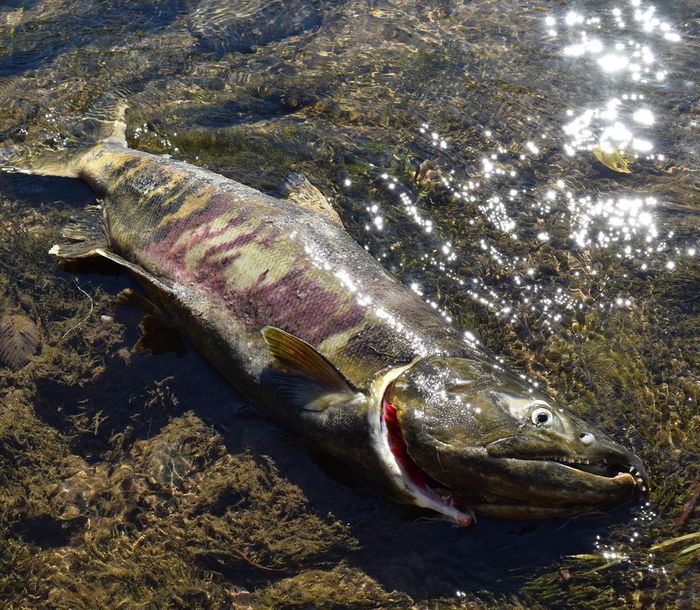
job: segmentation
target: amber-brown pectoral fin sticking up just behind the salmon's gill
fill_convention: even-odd
[[[291,404],[305,411],[324,411],[363,395],[311,345],[279,328],[266,326],[262,335],[270,350],[270,380]]]

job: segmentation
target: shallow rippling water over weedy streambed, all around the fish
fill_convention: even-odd
[[[134,350],[141,313],[115,305],[131,280],[46,255],[90,190],[0,174],[0,313],[43,332],[0,369],[0,599],[697,604],[697,537],[658,545],[700,523],[699,18],[641,0],[4,3],[4,144],[60,143],[120,89],[135,148],[273,194],[304,172],[465,340],[634,448],[651,492],[466,530],[386,502],[196,353]]]

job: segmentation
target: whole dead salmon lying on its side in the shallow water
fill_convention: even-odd
[[[470,507],[569,515],[646,485],[634,454],[475,352],[309,185],[278,199],[132,150],[121,117],[87,133],[30,168],[102,199],[99,231],[52,252],[129,269],[243,395],[392,498],[464,526]]]

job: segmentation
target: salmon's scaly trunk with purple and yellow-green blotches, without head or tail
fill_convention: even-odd
[[[266,351],[260,329],[277,326],[362,387],[378,367],[469,351],[422,299],[319,214],[114,145],[87,153],[80,177],[104,199],[110,247],[224,310],[238,342],[252,343],[256,354]]]

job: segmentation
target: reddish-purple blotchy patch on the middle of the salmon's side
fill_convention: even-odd
[[[232,318],[240,320],[249,330],[277,326],[318,344],[363,322],[365,309],[354,297],[341,286],[336,291],[323,287],[313,277],[314,268],[305,260],[281,263],[284,270],[290,271],[280,277],[278,270],[274,275],[279,279],[268,282],[265,257],[250,256],[246,264],[261,267],[257,279],[252,286],[236,286],[231,263],[245,256],[246,246],[250,244],[264,249],[274,245],[280,229],[265,219],[257,226],[246,227],[245,232],[232,231],[250,220],[251,211],[246,209],[217,226],[223,215],[231,213],[235,203],[226,194],[212,197],[204,209],[166,225],[162,238],[147,248],[146,256],[158,261],[179,281],[196,283],[209,294],[217,295]],[[225,238],[226,232],[231,234],[229,239],[206,247],[188,268],[187,257],[194,248]]]

